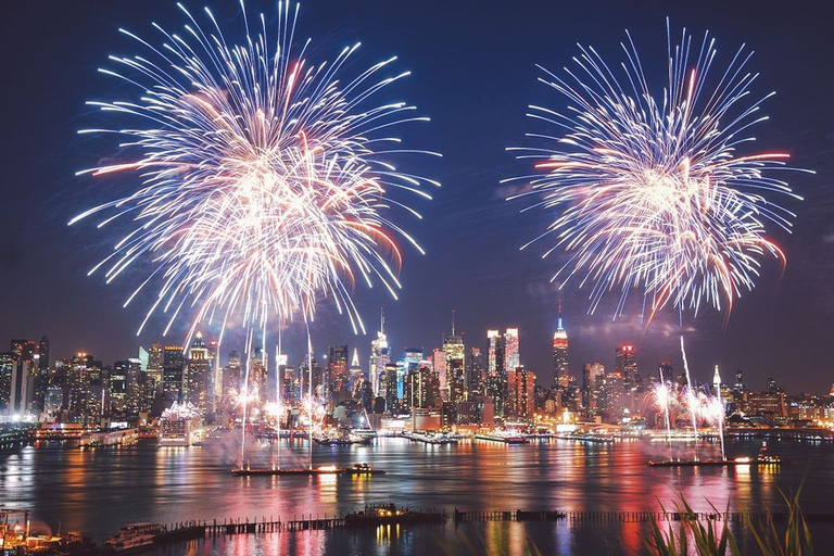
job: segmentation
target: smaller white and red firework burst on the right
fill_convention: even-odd
[[[668,45],[660,94],[630,36],[620,67],[580,47],[578,68],[564,77],[542,68],[540,80],[569,106],[531,106],[529,116],[564,134],[532,135],[546,144],[521,157],[543,174],[517,179],[532,184],[523,194],[541,195],[533,206],[558,211],[536,239],[553,238],[544,256],[570,254],[553,279],[590,286],[591,312],[617,290],[617,315],[632,290],[650,302],[650,315],[667,304],[729,311],[754,288],[763,257],[785,261],[766,227],[789,230],[794,215],[770,197],[799,198],[776,174],[791,169],[787,154],[746,152],[750,127],[767,119],[760,104],[773,94],[751,97],[751,53],[742,46],[716,71],[708,34],[699,47],[685,30],[679,46],[671,36]]]

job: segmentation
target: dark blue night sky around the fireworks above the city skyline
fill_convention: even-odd
[[[198,13],[204,0],[185,2]],[[250,13],[264,11],[275,20],[277,2],[249,1]],[[526,132],[555,131],[525,117],[528,104],[555,110],[566,101],[536,81],[541,64],[552,71],[571,64],[577,42],[594,46],[619,63],[619,42],[629,29],[646,72],[665,78],[666,17],[673,29],[686,27],[696,37],[710,30],[718,40],[719,66],[725,66],[742,43],[755,51],[748,68],[760,72],[757,96],[778,94],[766,102],[770,122],[759,125],[757,150],[788,151],[792,164],[817,172],[793,175],[794,190],[805,198],[791,204],[797,213],[793,235],[774,231],[787,267],[764,265],[758,287],[737,300],[729,319],[706,311],[685,315],[687,351],[696,378],[709,380],[721,366],[726,382],[741,368],[746,382],[763,389],[768,377],[792,392],[826,392],[834,381],[834,25],[825,2],[556,2],[492,4],[482,1],[391,2],[307,1],[302,3],[299,37],[311,37],[308,59],[332,60],[346,45],[362,41],[354,71],[392,54],[397,70],[412,76],[379,100],[405,100],[430,124],[403,127],[399,135],[412,148],[442,152],[401,159],[399,165],[439,179],[434,200],[403,199],[425,215],[418,222],[397,213],[397,223],[427,251],[421,256],[404,247],[401,299],[382,288],[357,288],[355,299],[369,331],[379,307],[386,307],[386,331],[395,353],[407,346],[427,351],[441,343],[456,311],[457,330],[467,344],[485,346],[488,328],[520,328],[521,361],[549,384],[553,376],[551,338],[556,302],[564,304],[570,338],[571,371],[585,362],[614,365],[615,348],[636,346],[643,371],[661,359],[681,368],[678,319],[667,309],[647,329],[639,321],[640,299],[632,296],[626,315],[611,320],[604,304],[587,315],[585,290],[568,282],[561,291],[549,283],[559,257],[541,260],[546,243],[519,247],[544,230],[553,215],[520,214],[527,206],[506,202],[500,180],[529,172],[505,149],[534,146]],[[237,2],[210,4],[238,38]],[[494,8],[486,8],[494,5]],[[88,100],[134,99],[117,79],[97,73],[109,54],[134,55],[139,46],[121,35],[125,27],[160,43],[152,22],[180,31],[185,15],[174,1],[46,0],[3,2],[2,33],[3,148],[0,150],[0,351],[12,338],[39,340],[48,334],[52,357],[87,351],[105,364],[134,356],[139,344],[161,339],[165,319],[154,318],[139,338],[148,304],[140,299],[123,308],[147,267],[104,285],[87,271],[109,254],[118,226],[96,229],[94,222],[67,227],[67,220],[92,205],[129,192],[136,176],[118,180],[76,177],[75,172],[117,153],[112,137],[78,136],[76,131],[106,123]],[[207,20],[200,15],[200,21]],[[165,341],[181,342],[186,320]],[[313,326],[315,352],[331,343],[358,344],[367,359],[370,336],[354,337],[346,317],[323,301]],[[213,336],[212,330],[204,331]],[[237,334],[240,337],[241,334]],[[286,331],[291,361],[304,353],[303,326]],[[232,338],[224,352],[240,349]],[[270,348],[270,351],[273,348]]]

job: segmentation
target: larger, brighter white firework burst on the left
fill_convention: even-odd
[[[127,140],[126,160],[80,174],[132,173],[142,181],[71,222],[102,212],[100,227],[131,218],[131,231],[91,273],[103,267],[110,282],[137,261],[152,262],[127,300],[159,287],[142,327],[156,311],[169,315],[170,327],[186,309],[195,314],[189,337],[215,318],[223,327],[236,318],[265,329],[294,315],[312,319],[316,300],[329,296],[354,331],[364,331],[351,300],[354,282],[381,282],[396,298],[395,238],[421,252],[387,216],[392,205],[419,214],[389,192],[430,198],[424,186],[439,185],[389,162],[417,151],[400,149],[388,130],[428,119],[402,102],[375,103],[408,74],[383,76],[392,58],[344,78],[358,45],[330,64],[309,64],[309,41],[293,50],[298,5],[279,3],[277,39],[269,41],[265,17],[251,33],[241,2],[247,36],[239,45],[227,41],[207,9],[206,29],[180,9],[189,21],[182,35],[154,24],[164,37],[155,48],[122,30],[147,53],[111,56],[116,70],[101,70],[140,98],[89,103],[139,125],[81,131]]]

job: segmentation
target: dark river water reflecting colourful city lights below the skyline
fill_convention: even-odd
[[[761,441],[728,444],[728,455],[755,456]],[[483,441],[428,445],[380,438],[369,446],[314,446],[314,465],[367,462],[387,475],[374,477],[235,477],[240,447],[232,439],[202,446],[79,448],[38,444],[0,452],[0,506],[28,508],[33,529],[79,531],[102,541],[134,521],[301,518],[345,514],[366,504],[394,502],[412,508],[462,510],[639,511],[673,508],[683,495],[697,511],[782,511],[782,494],[801,485],[806,514],[834,514],[834,445],[770,441],[781,467],[653,468],[668,457],[662,442],[544,441],[505,445]],[[674,447],[682,456],[692,446]],[[702,444],[700,457],[718,446]],[[308,463],[305,441],[255,442],[252,467]],[[814,525],[814,539],[834,540],[831,525]],[[368,532],[306,531],[241,535],[160,549],[160,555],[304,554],[523,554],[532,543],[542,554],[637,554],[645,526],[491,522],[420,526]]]

